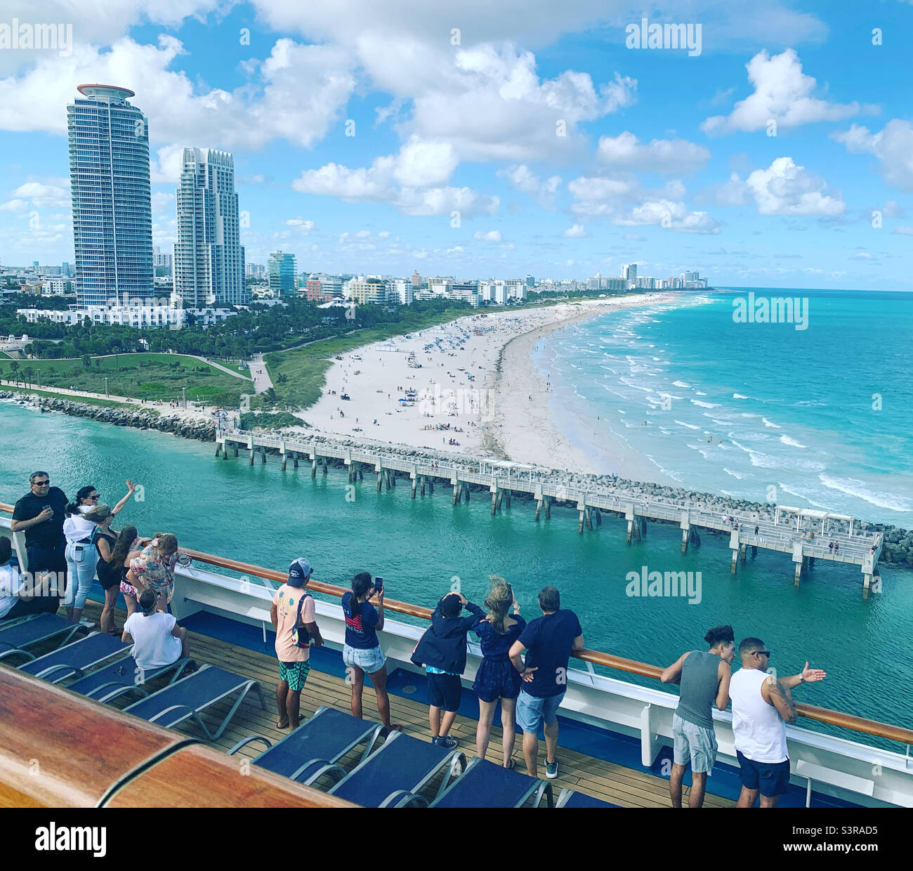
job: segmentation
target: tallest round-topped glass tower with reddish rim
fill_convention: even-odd
[[[152,299],[148,121],[129,102],[130,89],[77,90],[67,134],[78,304]]]

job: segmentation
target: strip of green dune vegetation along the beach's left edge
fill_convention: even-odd
[[[457,318],[465,318],[467,314],[474,311],[465,306],[459,308],[438,306],[426,311],[413,311],[412,307],[403,308],[406,316],[398,323],[354,331],[336,339],[313,341],[302,348],[275,352],[264,357],[269,377],[276,385],[278,402],[297,408],[307,408],[316,403],[323,390],[326,372],[336,354],[352,351],[373,341],[383,341],[392,336],[424,330],[426,327]],[[262,402],[261,397],[257,397],[257,400]],[[257,404],[257,400],[252,403]]]

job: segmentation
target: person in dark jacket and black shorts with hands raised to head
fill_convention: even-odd
[[[461,617],[463,608],[472,616]],[[463,593],[447,593],[437,603],[431,625],[412,652],[415,665],[425,666],[431,742],[448,750],[456,747],[456,740],[448,732],[456,719],[463,693],[460,677],[466,669],[466,635],[484,618],[485,612],[477,604],[468,602]]]

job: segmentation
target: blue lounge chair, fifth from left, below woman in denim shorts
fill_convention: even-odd
[[[385,729],[377,723],[356,719],[335,708],[318,708],[314,716],[289,732],[282,740],[272,744],[259,735],[240,740],[228,750],[232,755],[253,741],[267,745],[253,762],[260,768],[290,777],[293,781],[306,780],[317,769],[340,761],[351,750],[365,744],[363,761]]]

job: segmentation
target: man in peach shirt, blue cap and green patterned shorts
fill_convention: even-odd
[[[323,638],[316,622],[314,597],[305,593],[313,569],[299,557],[289,566],[289,580],[273,595],[269,616],[276,631],[279,683],[276,704],[277,729],[298,729],[301,690],[310,673],[310,646],[320,647]]]

